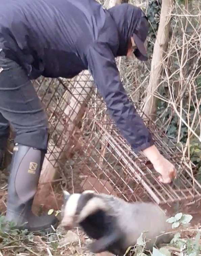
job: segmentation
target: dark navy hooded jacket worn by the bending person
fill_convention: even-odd
[[[153,144],[127,98],[115,57],[127,43],[140,8],[104,10],[95,0],[0,0],[0,49],[30,79],[71,78],[88,69],[122,135],[138,152]]]

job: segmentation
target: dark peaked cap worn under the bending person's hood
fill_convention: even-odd
[[[139,22],[137,23],[137,26],[133,33],[133,40],[136,45],[136,49],[134,50],[133,53],[136,56],[136,58],[139,59],[140,61],[148,60],[147,50],[144,45],[145,40],[148,36],[148,31],[149,31],[148,18],[142,13],[142,17],[139,19]]]

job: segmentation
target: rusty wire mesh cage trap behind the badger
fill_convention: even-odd
[[[157,148],[178,170],[178,180],[161,184],[143,153],[132,152],[110,119],[97,89],[91,89],[92,84],[92,77],[85,71],[71,80],[34,81],[50,124],[46,157],[67,180],[73,173],[76,192],[93,189],[126,201],[155,201],[170,206],[199,200],[201,185],[193,177],[194,166],[171,140],[148,118],[144,119]]]

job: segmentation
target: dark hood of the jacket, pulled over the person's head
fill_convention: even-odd
[[[145,14],[141,8],[127,3],[111,7],[108,12],[119,31],[120,42],[117,56],[126,56],[129,39],[132,37],[140,18]]]

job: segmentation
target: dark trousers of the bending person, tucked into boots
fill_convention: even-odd
[[[0,149],[5,148],[9,125],[15,143],[47,149],[48,118],[42,103],[24,69],[0,52]]]

